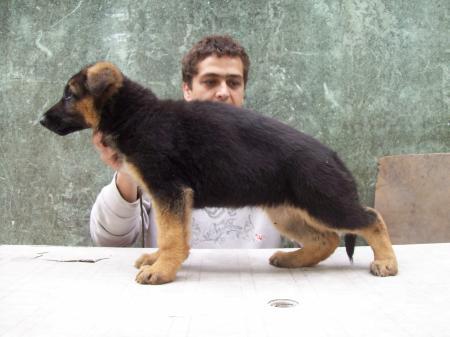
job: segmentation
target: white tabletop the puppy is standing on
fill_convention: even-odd
[[[134,281],[143,249],[3,245],[0,336],[450,336],[450,243],[394,248],[387,278],[370,247],[303,269],[270,266],[275,250],[192,250],[151,286]]]

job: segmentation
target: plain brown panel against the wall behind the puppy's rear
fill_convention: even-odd
[[[450,242],[450,153],[379,160],[375,208],[392,242]]]

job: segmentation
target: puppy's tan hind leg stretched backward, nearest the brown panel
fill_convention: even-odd
[[[376,276],[396,275],[398,273],[397,258],[392,248],[386,223],[377,210],[370,207],[367,209],[377,215],[376,220],[366,228],[353,231],[353,233],[362,236],[372,247],[374,254],[374,261],[370,266],[372,274]]]

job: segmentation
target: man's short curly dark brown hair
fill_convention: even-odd
[[[183,82],[192,86],[192,79],[198,74],[198,64],[211,55],[239,57],[244,65],[244,85],[247,84],[250,59],[244,47],[228,35],[209,35],[194,44],[181,61]]]

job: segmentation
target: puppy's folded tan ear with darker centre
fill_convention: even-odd
[[[114,64],[98,62],[87,69],[86,83],[93,96],[109,98],[122,86],[123,75]]]

